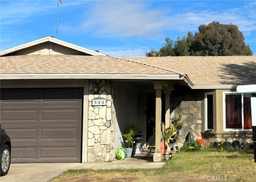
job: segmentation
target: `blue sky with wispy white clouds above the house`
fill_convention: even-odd
[[[201,24],[234,24],[256,55],[256,1],[1,0],[0,49],[45,36],[118,57],[145,56],[165,37],[176,40]]]

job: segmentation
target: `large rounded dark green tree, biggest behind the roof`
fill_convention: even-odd
[[[252,55],[244,43],[244,35],[235,25],[212,22],[200,25],[198,31],[194,42],[190,40],[190,55]]]

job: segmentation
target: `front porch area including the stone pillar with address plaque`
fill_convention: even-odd
[[[95,87],[99,88],[98,93],[94,92]],[[96,97],[106,98],[106,106],[92,106],[92,99]],[[201,97],[200,90],[192,90],[183,81],[177,80],[91,80],[88,162],[112,161],[116,149],[122,146],[122,134],[127,124],[136,124],[142,131],[143,149],[150,135],[153,135],[153,128],[156,129],[154,154],[160,154],[161,123],[169,127],[178,115],[182,115],[183,123],[176,143],[179,147],[188,132],[195,139],[201,137]]]

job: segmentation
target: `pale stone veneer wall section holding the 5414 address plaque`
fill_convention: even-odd
[[[99,93],[94,93],[94,87]],[[113,104],[114,85],[110,81],[90,80],[88,111],[88,162],[107,162],[114,158],[116,113]],[[106,99],[105,106],[92,106],[92,99]]]

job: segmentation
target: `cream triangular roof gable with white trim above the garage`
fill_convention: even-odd
[[[80,47],[78,45],[70,44],[62,40],[47,36],[26,44],[18,45],[10,49],[0,51],[0,56],[7,55],[55,55],[55,54],[68,54],[68,55],[106,55]]]

